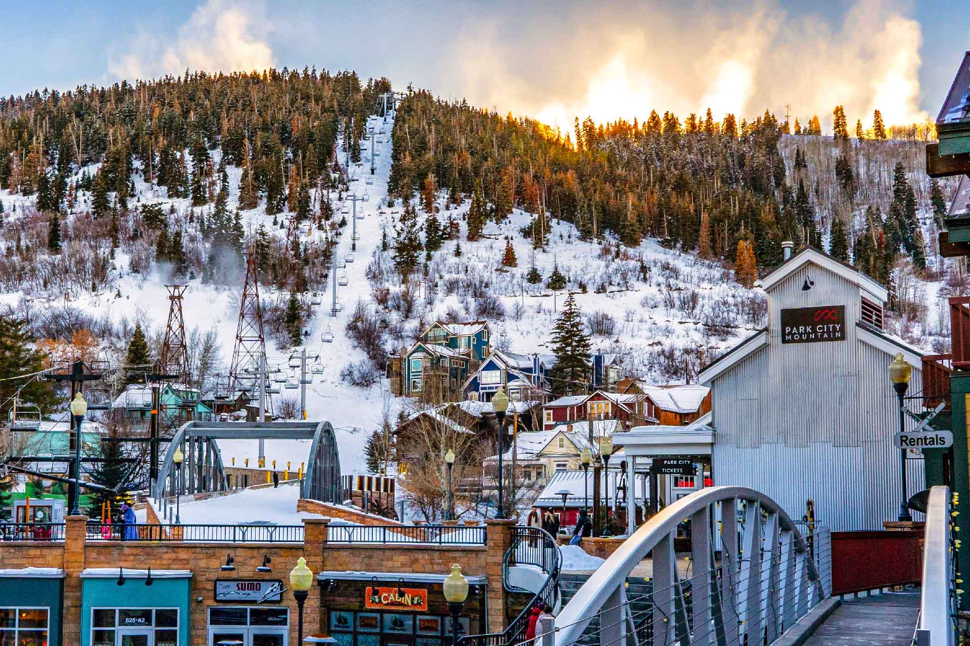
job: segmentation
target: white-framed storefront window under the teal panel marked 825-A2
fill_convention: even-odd
[[[178,646],[178,608],[91,610],[91,646],[141,644]]]

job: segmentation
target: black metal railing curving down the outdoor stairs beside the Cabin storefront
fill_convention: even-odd
[[[512,528],[512,545],[505,550],[501,559],[502,586],[508,592],[529,592],[510,585],[508,581],[508,570],[518,563],[516,557],[523,546],[527,549],[526,560],[531,561],[532,559],[529,557],[535,554],[538,557],[535,559],[538,563],[520,563],[519,565],[534,565],[546,572],[548,576],[542,587],[504,631],[469,634],[458,640],[459,646],[509,646],[510,644],[525,642],[526,632],[529,629],[529,618],[535,604],[542,601],[548,605],[555,605],[556,596],[559,592],[559,572],[562,567],[562,557],[556,538],[538,527],[517,525]]]

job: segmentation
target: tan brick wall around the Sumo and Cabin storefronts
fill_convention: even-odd
[[[313,503],[313,501],[309,501]],[[316,503],[316,505],[323,505]],[[327,506],[333,508],[333,506]],[[309,510],[309,509],[307,509]],[[348,510],[349,511],[349,510]],[[157,515],[148,508],[149,522]],[[451,564],[459,563],[467,575],[487,575],[489,585],[487,631],[504,628],[505,596],[501,584],[501,559],[511,544],[514,521],[489,521],[488,545],[409,545],[327,543],[329,518],[304,520],[303,544],[279,543],[183,543],[138,541],[86,541],[86,516],[66,520],[63,543],[0,543],[0,563],[4,568],[64,569],[64,644],[81,643],[81,578],[86,568],[190,569],[190,644],[205,646],[208,612],[214,605],[213,581],[218,578],[266,578],[288,582],[289,571],[299,557],[307,559],[313,572],[323,570],[372,570],[447,574]],[[358,522],[355,520],[354,522]],[[391,524],[387,519],[382,523]],[[226,554],[236,560],[236,570],[221,572]],[[257,573],[264,556],[272,559],[272,573]],[[220,576],[221,575],[221,576]],[[286,584],[288,586],[288,583]],[[197,598],[201,602],[196,602]],[[284,594],[281,605],[290,608],[290,643],[297,641],[297,606],[290,594]],[[324,631],[320,609],[320,589],[309,592],[305,605],[305,631]]]

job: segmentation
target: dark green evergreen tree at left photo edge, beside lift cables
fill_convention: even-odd
[[[0,375],[9,378],[43,370],[45,355],[34,349],[34,342],[25,321],[0,313]],[[21,403],[36,405],[44,415],[53,414],[58,402],[48,382],[3,380],[0,381],[0,415],[5,419],[15,395]]]

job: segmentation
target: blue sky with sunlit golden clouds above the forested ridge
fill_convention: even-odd
[[[567,127],[710,105],[803,119],[935,117],[970,15],[956,0],[367,4],[5,3],[0,93],[274,64],[355,69]],[[804,7],[811,5],[810,8]],[[596,9],[593,9],[596,7]],[[891,118],[891,117],[890,117]]]

